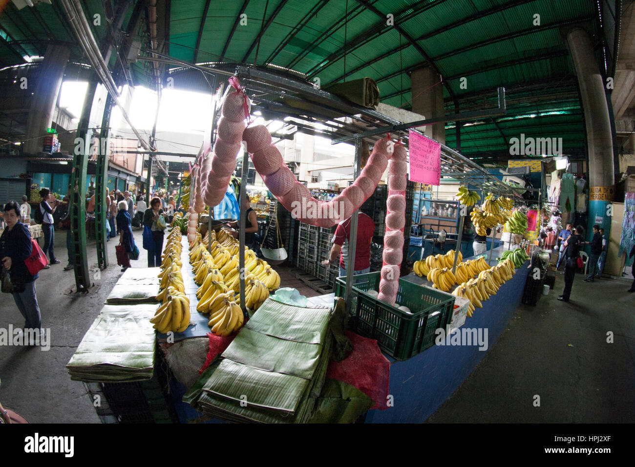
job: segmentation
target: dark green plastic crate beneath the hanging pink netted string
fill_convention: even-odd
[[[377,339],[379,347],[397,360],[408,360],[434,345],[435,331],[452,319],[454,297],[434,288],[399,279],[396,304],[407,306],[406,313],[396,306],[373,298],[366,292],[379,291],[380,273],[355,276],[351,303],[352,330]],[[335,280],[335,296],[344,297],[346,278]]]

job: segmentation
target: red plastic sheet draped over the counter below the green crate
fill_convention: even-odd
[[[353,351],[341,362],[328,365],[326,377],[338,379],[355,386],[372,400],[375,405],[371,409],[388,409],[390,362],[385,358],[375,339],[367,339],[361,335],[346,332],[351,339]]]

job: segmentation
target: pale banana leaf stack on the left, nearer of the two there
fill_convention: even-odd
[[[102,308],[66,365],[70,379],[128,382],[152,378],[156,304]]]

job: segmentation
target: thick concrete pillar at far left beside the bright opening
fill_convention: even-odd
[[[61,45],[49,45],[43,62],[39,65],[37,83],[29,90],[33,93],[27,118],[26,154],[42,151],[46,128],[53,123],[55,102],[62,87],[62,78],[69,62],[70,48]]]

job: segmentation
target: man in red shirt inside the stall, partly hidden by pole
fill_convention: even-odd
[[[329,259],[322,262],[325,266],[327,264],[336,261],[337,257],[340,257],[340,276],[346,275],[346,259],[347,252],[342,251],[342,245],[344,241],[348,240],[350,245],[351,236],[351,217],[338,224],[335,229],[335,237],[333,239],[333,248],[331,248],[331,254]],[[368,215],[363,212],[359,212],[358,217],[358,231],[357,242],[355,248],[355,274],[370,273],[370,244],[373,241],[373,234],[375,233],[375,222]]]

